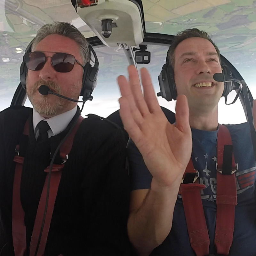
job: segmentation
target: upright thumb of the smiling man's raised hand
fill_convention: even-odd
[[[188,100],[185,95],[178,95],[175,110],[176,127],[182,132],[191,132],[189,125]]]

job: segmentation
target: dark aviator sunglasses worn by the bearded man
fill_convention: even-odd
[[[52,58],[52,67],[57,72],[70,72],[74,68],[75,62],[84,68],[74,55],[65,52],[56,52],[52,57],[46,57],[44,52],[30,52],[25,55],[26,66],[30,70],[41,70],[47,58]]]

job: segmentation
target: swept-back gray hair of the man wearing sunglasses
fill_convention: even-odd
[[[80,55],[83,59],[83,65],[85,65],[87,62],[90,62],[89,44],[86,38],[75,26],[67,22],[55,21],[40,28],[31,46],[32,51],[34,51],[36,45],[41,40],[52,34],[66,36],[74,40],[80,46]]]

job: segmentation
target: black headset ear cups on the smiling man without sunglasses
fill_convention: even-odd
[[[231,71],[226,65],[221,65],[222,73],[225,75],[229,75],[233,77]],[[170,65],[168,52],[166,56],[166,61],[162,70],[158,76],[158,82],[160,86],[160,92],[157,93],[157,96],[162,96],[165,100],[171,101],[177,99],[177,90],[176,84],[174,80],[174,71],[172,66]],[[222,96],[227,97],[229,92],[235,88],[234,82],[225,82],[224,83],[224,90]]]

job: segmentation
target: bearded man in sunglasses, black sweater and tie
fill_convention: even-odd
[[[122,129],[48,94],[85,95],[89,62],[86,39],[64,22],[39,29],[24,56],[33,109],[0,112],[1,255],[131,255]]]

